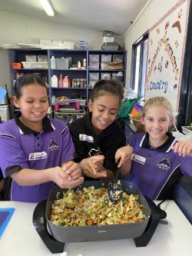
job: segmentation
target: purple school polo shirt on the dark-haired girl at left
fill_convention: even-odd
[[[0,125],[0,166],[6,178],[23,168],[42,169],[61,166],[74,158],[74,144],[68,126],[58,119],[43,120],[43,131],[37,133],[25,126],[19,115]],[[5,182],[6,185],[6,182]],[[11,179],[6,197],[11,201],[39,202],[48,198],[55,186],[46,182],[35,186],[19,186]]]

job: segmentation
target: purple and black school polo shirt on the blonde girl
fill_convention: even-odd
[[[192,176],[192,157],[181,157],[170,148],[177,141],[169,135],[167,141],[154,148],[149,135],[137,134],[132,141],[134,148],[130,181],[141,193],[152,200],[172,197],[173,185],[182,175]]]

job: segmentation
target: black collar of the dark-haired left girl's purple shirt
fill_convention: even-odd
[[[22,121],[19,119],[21,115],[22,114],[20,112],[16,113],[14,118],[15,118],[16,125],[18,125],[18,128],[20,128],[22,133],[24,135],[26,134],[38,135],[39,133],[37,131],[32,130],[28,126],[24,125],[24,123],[22,123]],[[43,131],[54,131],[54,127],[51,125],[51,121],[47,116],[43,118]]]

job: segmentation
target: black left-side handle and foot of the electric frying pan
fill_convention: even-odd
[[[47,200],[41,201],[36,205],[33,212],[33,225],[41,240],[52,254],[62,253],[65,248],[65,243],[61,243],[60,241],[55,240],[55,238],[53,238],[48,232],[47,221],[45,218],[46,204]]]

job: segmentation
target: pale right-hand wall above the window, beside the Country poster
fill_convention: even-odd
[[[124,34],[124,48],[127,50],[126,87],[129,88],[131,78],[131,51],[132,45],[141,38],[149,28],[158,22],[178,0],[149,0],[135,18],[131,28]]]

